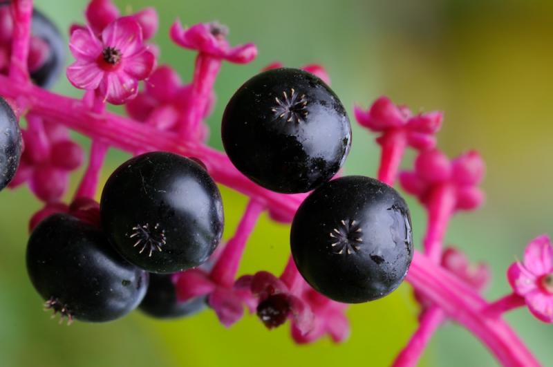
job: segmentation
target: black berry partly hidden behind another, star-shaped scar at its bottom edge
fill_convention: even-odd
[[[148,286],[147,272],[124,261],[100,229],[68,214],[53,214],[32,231],[27,270],[45,307],[69,321],[118,319]]]

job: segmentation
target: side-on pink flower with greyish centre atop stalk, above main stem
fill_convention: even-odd
[[[171,26],[171,39],[184,48],[198,50],[236,64],[247,64],[257,56],[254,44],[231,47],[227,42],[228,29],[219,23],[199,23],[183,28],[180,21]]]

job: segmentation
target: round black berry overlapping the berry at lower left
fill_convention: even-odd
[[[100,201],[104,232],[127,261],[156,273],[204,263],[223,234],[223,203],[198,163],[151,152],[121,164]]]

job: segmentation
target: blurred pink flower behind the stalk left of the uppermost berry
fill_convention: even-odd
[[[151,73],[144,91],[126,105],[126,111],[133,119],[156,126],[160,130],[177,131],[182,114],[191,101],[191,84],[182,84],[178,74],[169,66],[162,65]],[[213,109],[214,93],[211,94],[203,117]],[[207,137],[207,127],[200,124],[199,135]]]

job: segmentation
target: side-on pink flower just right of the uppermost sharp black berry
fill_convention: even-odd
[[[380,97],[368,111],[355,106],[355,118],[371,131],[382,133],[377,140],[396,131],[406,133],[407,142],[419,150],[432,149],[436,145],[435,133],[442,126],[443,115],[439,111],[413,115],[404,106],[395,106],[388,97]]]

